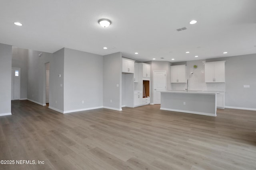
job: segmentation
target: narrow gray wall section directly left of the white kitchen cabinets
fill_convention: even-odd
[[[120,52],[103,56],[103,107],[122,110],[122,53]]]

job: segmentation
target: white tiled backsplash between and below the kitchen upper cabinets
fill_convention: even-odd
[[[204,82],[205,60],[187,61],[188,90],[203,91],[225,91],[225,83],[205,83]],[[197,68],[194,68],[197,65]],[[191,74],[193,72],[193,74]],[[185,90],[186,83],[172,83],[172,90]]]

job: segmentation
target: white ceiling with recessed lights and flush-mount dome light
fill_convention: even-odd
[[[256,53],[256,0],[0,0],[0,22],[0,43],[49,53],[172,62]]]

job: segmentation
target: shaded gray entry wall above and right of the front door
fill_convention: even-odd
[[[12,67],[20,68],[20,99],[27,99],[28,49],[12,47]]]

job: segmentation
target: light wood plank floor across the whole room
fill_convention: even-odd
[[[256,111],[217,117],[160,110],[94,109],[62,114],[27,100],[0,117],[0,169],[255,170]]]

